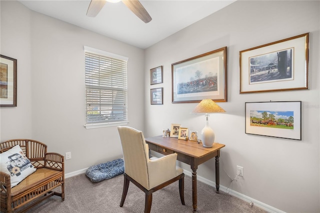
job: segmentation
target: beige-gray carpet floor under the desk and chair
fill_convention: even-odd
[[[52,196],[28,210],[34,212],[126,212],[144,211],[144,192],[130,183],[123,207],[119,207],[123,175],[108,180],[91,182],[85,174],[65,179],[65,200]],[[184,178],[184,199],[179,197],[178,181],[153,193],[151,212],[193,212],[191,177]],[[197,211],[204,212],[266,212],[257,206],[197,181]]]

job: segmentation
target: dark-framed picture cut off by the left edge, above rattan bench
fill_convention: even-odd
[[[16,64],[14,58],[0,55],[0,106],[16,106]]]

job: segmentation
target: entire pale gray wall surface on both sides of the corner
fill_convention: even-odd
[[[71,151],[66,173],[121,155],[115,127],[83,127],[83,45],[129,57],[130,126],[144,130],[145,136],[161,134],[171,123],[200,131],[204,117],[190,114],[196,103],[171,103],[171,63],[227,46],[228,101],[218,103],[226,113],[209,117],[216,141],[226,144],[220,184],[227,187],[240,165],[244,177],[231,189],[287,212],[320,211],[319,1],[236,1],[146,50],[30,11],[16,1],[1,0],[0,6],[1,54],[18,62],[18,106],[0,108],[1,141],[33,138],[49,151]],[[310,90],[239,94],[240,50],[305,32],[310,32]],[[164,67],[163,83],[150,86],[149,69],[158,65]],[[150,105],[154,87],[164,87],[163,105]],[[301,141],[244,133],[244,102],[268,100],[302,101]],[[214,181],[213,160],[197,171]]]

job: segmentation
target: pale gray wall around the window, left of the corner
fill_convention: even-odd
[[[1,107],[1,138],[32,138],[72,158],[65,172],[121,157],[116,126],[85,129],[83,45],[127,56],[128,120],[143,129],[143,50],[1,3],[1,54],[17,59],[17,107]]]

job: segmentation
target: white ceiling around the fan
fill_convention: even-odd
[[[96,17],[88,17],[90,0],[19,0],[31,10],[143,49],[234,1],[140,0],[152,17],[144,23],[122,2],[106,2]]]

